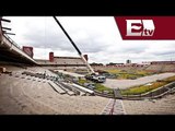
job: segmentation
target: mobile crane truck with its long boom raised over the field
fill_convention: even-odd
[[[94,70],[92,69],[92,67],[89,64],[89,62],[86,61],[86,59],[83,57],[82,52],[80,51],[80,49],[77,47],[77,45],[74,44],[74,41],[71,39],[71,37],[68,35],[68,33],[65,31],[63,26],[60,24],[60,22],[57,20],[56,16],[54,16],[55,21],[57,22],[57,24],[60,26],[60,28],[62,29],[62,32],[65,33],[65,35],[68,37],[68,39],[70,40],[70,43],[73,45],[73,47],[75,48],[75,50],[78,51],[79,56],[81,57],[81,59],[84,61],[85,66],[89,69],[89,74],[85,76],[88,80],[92,80],[94,82],[105,82],[106,78],[103,75],[100,75],[97,73],[94,72]]]

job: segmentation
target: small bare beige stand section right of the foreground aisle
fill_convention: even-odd
[[[175,94],[154,100],[122,100],[127,115],[175,115]]]

